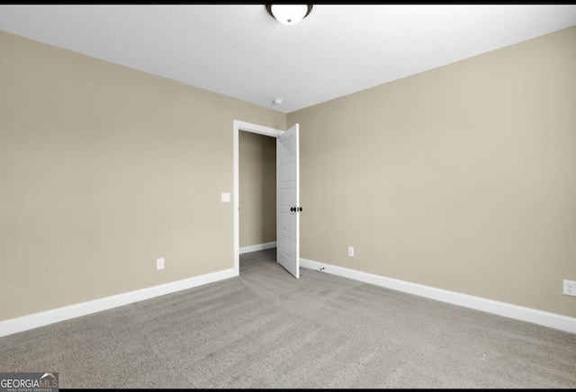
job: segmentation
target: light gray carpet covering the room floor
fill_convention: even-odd
[[[576,334],[308,269],[240,276],[0,338],[60,388],[576,388]]]

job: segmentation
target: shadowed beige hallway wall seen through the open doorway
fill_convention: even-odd
[[[238,135],[240,246],[276,241],[276,138]]]

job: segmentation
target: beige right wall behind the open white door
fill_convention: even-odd
[[[295,122],[303,258],[576,316],[576,27]]]

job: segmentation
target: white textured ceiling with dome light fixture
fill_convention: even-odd
[[[2,31],[285,113],[574,25],[576,4],[316,4],[292,26],[264,4],[0,5]]]

